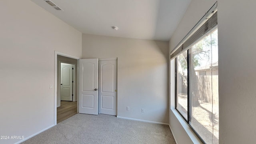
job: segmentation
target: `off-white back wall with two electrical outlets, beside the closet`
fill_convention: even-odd
[[[82,58],[118,58],[118,116],[168,123],[168,42],[83,34]]]

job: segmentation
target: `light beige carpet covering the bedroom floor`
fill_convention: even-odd
[[[22,144],[176,144],[168,125],[76,114]]]

